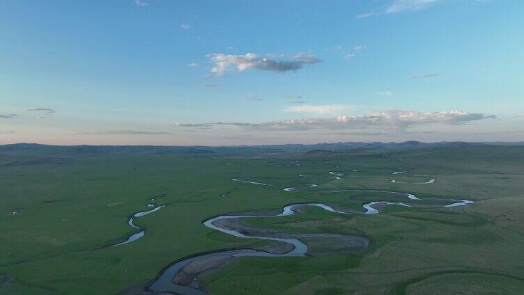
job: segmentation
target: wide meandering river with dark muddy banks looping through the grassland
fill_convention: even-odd
[[[339,173],[330,172],[330,175],[342,176]],[[302,176],[302,175],[299,175]],[[262,182],[254,182],[249,180],[242,180],[239,178],[233,179],[232,181],[237,182],[247,182],[249,184],[258,184],[264,186],[270,186],[271,184],[265,184]],[[432,183],[433,181],[424,182]],[[300,193],[305,189],[317,186],[316,184],[302,184],[301,186],[286,187],[283,190],[290,193]],[[206,221],[203,221],[203,225],[207,228],[223,232],[224,234],[229,234],[233,237],[239,237],[242,239],[263,239],[270,241],[284,243],[286,248],[270,248],[264,250],[255,250],[249,248],[240,248],[240,249],[228,249],[228,250],[217,250],[211,253],[196,253],[190,257],[185,257],[181,260],[174,262],[173,264],[167,266],[160,275],[155,279],[151,285],[148,286],[148,290],[153,292],[168,292],[175,294],[183,295],[203,295],[207,294],[203,287],[199,285],[197,276],[200,273],[205,273],[217,269],[220,266],[223,266],[226,263],[231,262],[236,257],[247,257],[247,256],[263,256],[263,257],[300,257],[305,256],[309,252],[309,247],[305,243],[308,239],[320,238],[320,239],[339,239],[344,240],[346,244],[350,246],[352,250],[361,250],[367,248],[370,244],[369,239],[360,236],[352,235],[342,235],[342,234],[286,234],[282,232],[268,232],[265,230],[256,230],[251,228],[245,228],[240,223],[236,222],[241,218],[275,218],[282,216],[291,216],[295,214],[300,214],[301,209],[305,207],[320,207],[327,210],[328,212],[333,212],[336,214],[378,214],[379,207],[383,205],[399,205],[405,207],[417,207],[411,203],[421,200],[411,193],[400,193],[394,191],[379,191],[379,190],[362,190],[362,189],[334,189],[332,191],[324,191],[323,193],[341,193],[346,191],[367,191],[370,193],[380,192],[380,193],[390,193],[393,196],[399,196],[401,198],[407,198],[410,204],[406,202],[392,202],[392,201],[373,201],[367,202],[362,205],[363,212],[352,212],[352,211],[341,211],[343,209],[335,209],[330,205],[326,205],[321,202],[307,202],[299,204],[286,205],[282,208],[282,212],[277,214],[225,214],[209,218]],[[444,205],[432,205],[431,207],[457,207],[465,206],[472,204],[471,200],[460,200],[460,199],[442,199],[442,198],[424,198],[424,200],[430,201],[440,201],[444,202]],[[378,206],[377,206],[378,205]],[[426,205],[427,206],[427,205]],[[160,209],[157,207],[155,209]],[[153,209],[153,210],[155,210]],[[151,210],[151,211],[153,211]],[[143,212],[142,212],[143,213]],[[137,214],[134,215],[138,217]],[[135,227],[132,224],[132,218],[130,219],[130,225]],[[135,227],[136,228],[136,227]],[[143,232],[142,232],[142,235]],[[132,237],[130,237],[131,239]],[[114,246],[128,243],[124,241],[122,243],[116,244]]]

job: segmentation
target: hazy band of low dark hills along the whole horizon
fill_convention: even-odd
[[[40,145],[18,143],[0,145],[0,166],[29,166],[40,164],[61,165],[75,159],[118,155],[179,154],[194,156],[268,156],[294,159],[360,157],[378,159],[392,157],[401,161],[424,161],[431,165],[452,166],[464,159],[489,164],[496,169],[498,161],[504,162],[514,173],[522,173],[518,165],[524,159],[524,145],[500,143],[441,142],[422,143],[318,143],[314,145],[253,145],[231,147],[204,146],[154,146],[154,145]],[[481,157],[480,157],[481,156]],[[521,166],[520,166],[521,167]],[[508,171],[509,171],[508,170]]]

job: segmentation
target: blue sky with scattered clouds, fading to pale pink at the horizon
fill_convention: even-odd
[[[0,144],[524,141],[521,0],[0,0]]]

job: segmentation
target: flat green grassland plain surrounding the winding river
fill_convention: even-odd
[[[227,212],[275,211],[296,202],[362,211],[364,202],[398,200],[380,192],[325,193],[334,189],[477,202],[387,207],[372,216],[309,208],[297,216],[253,218],[246,222],[256,228],[358,234],[373,243],[354,253],[242,258],[203,278],[206,289],[211,294],[524,294],[524,147],[265,154],[45,150],[27,156],[0,150],[0,165],[1,294],[125,293],[146,286],[187,255],[268,243],[201,224]],[[392,175],[403,170],[408,172]],[[329,171],[344,176],[335,180]],[[271,185],[231,181],[237,177]],[[390,182],[431,178],[437,181]],[[306,183],[318,186],[282,191]],[[108,248],[134,232],[127,219],[146,211],[151,198],[167,206],[135,220],[146,236]]]

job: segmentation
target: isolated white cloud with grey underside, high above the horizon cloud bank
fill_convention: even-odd
[[[208,57],[214,64],[211,72],[218,77],[229,72],[244,72],[252,69],[272,72],[297,71],[305,65],[314,65],[321,62],[319,58],[312,54],[296,54],[291,60],[263,58],[253,53],[245,55],[211,54]]]

